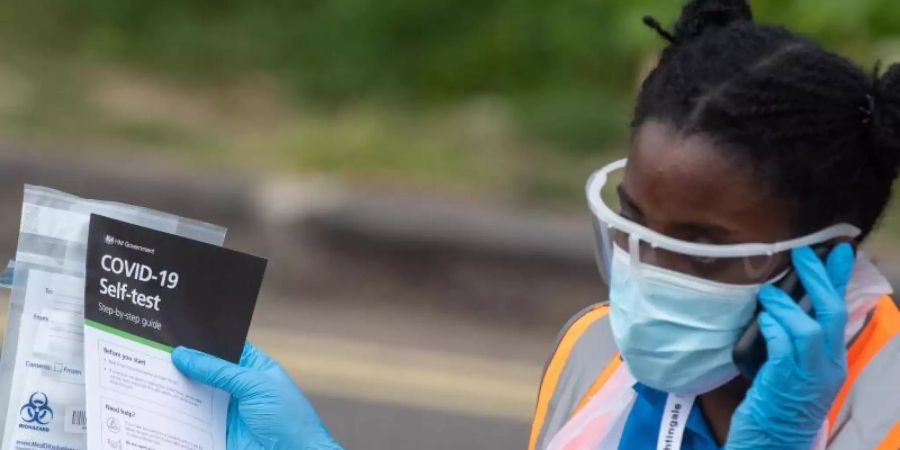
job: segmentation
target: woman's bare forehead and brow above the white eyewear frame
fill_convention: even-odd
[[[795,237],[785,202],[702,135],[661,122],[638,128],[619,188],[622,215],[654,231],[706,244]],[[781,265],[781,264],[779,264]]]

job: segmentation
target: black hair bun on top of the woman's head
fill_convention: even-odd
[[[683,42],[738,21],[753,21],[747,0],[691,0],[675,23],[675,39]]]

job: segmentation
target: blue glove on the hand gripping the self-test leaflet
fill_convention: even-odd
[[[228,450],[340,450],[291,377],[249,342],[240,365],[185,347],[172,362],[188,378],[231,394]]]

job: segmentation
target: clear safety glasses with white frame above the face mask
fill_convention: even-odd
[[[647,264],[685,275],[729,284],[763,283],[778,275],[792,248],[815,245],[839,237],[856,237],[860,230],[837,224],[795,239],[775,243],[700,244],[675,239],[623,217],[617,189],[625,175],[621,159],[594,172],[587,182],[597,264],[609,281],[614,246],[630,256],[632,265]]]

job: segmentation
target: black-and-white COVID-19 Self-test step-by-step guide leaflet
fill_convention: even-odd
[[[88,448],[225,450],[228,394],[172,364],[237,363],[266,260],[94,215],[84,286]]]

